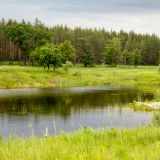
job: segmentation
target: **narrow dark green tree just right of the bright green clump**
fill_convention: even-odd
[[[80,52],[80,56],[81,56],[80,61],[83,63],[83,65],[85,67],[87,67],[87,66],[92,67],[93,66],[93,57],[90,52],[90,44],[84,38],[79,39],[79,52]]]

